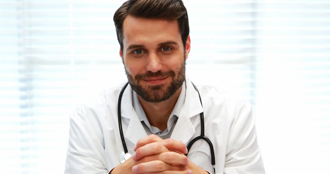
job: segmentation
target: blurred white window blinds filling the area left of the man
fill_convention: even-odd
[[[82,99],[125,79],[112,22],[119,6],[0,1],[2,171],[63,173],[69,115]]]

